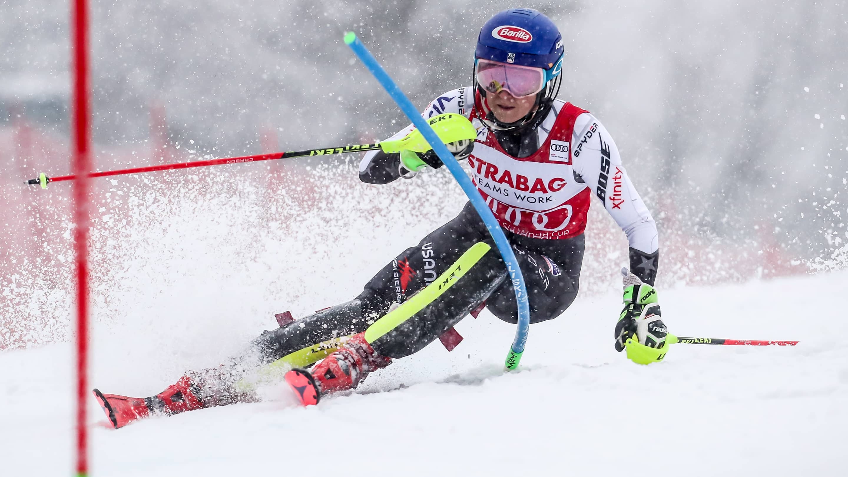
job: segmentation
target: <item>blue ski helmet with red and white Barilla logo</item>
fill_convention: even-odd
[[[550,111],[561,83],[562,59],[565,48],[560,30],[550,18],[533,8],[511,8],[495,14],[480,30],[477,49],[474,53],[475,71],[477,59],[489,59],[512,65],[531,66],[545,71],[545,87],[536,96],[536,107],[519,121],[501,123],[491,112],[487,114],[487,126],[495,129],[538,124]],[[486,96],[486,90],[477,84],[474,89]],[[534,121],[535,120],[535,121]]]

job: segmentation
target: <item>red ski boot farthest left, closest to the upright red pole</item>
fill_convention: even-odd
[[[145,398],[103,394],[99,390],[92,392],[114,429],[122,428],[137,419],[147,418],[153,413],[170,416],[204,407],[203,402],[198,399],[196,386],[188,376],[183,376],[176,384],[171,384],[158,395]]]

